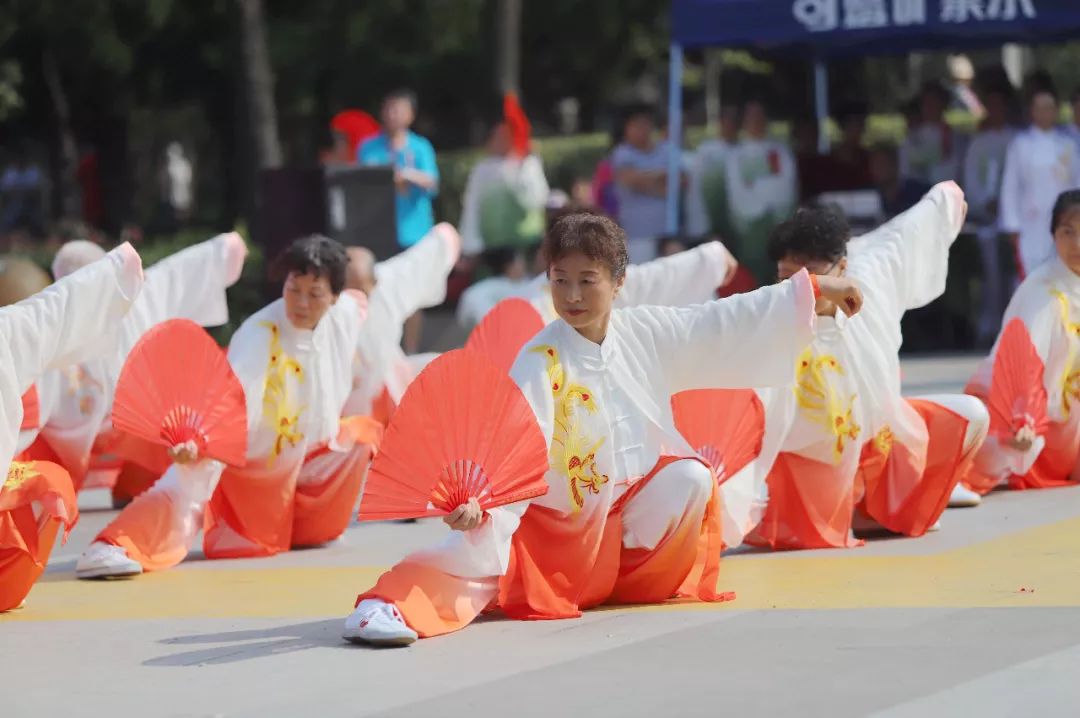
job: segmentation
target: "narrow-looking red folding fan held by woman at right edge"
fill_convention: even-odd
[[[995,436],[1012,438],[1025,424],[1031,424],[1036,434],[1047,432],[1050,420],[1042,360],[1018,319],[1009,322],[998,340],[987,404]]]

